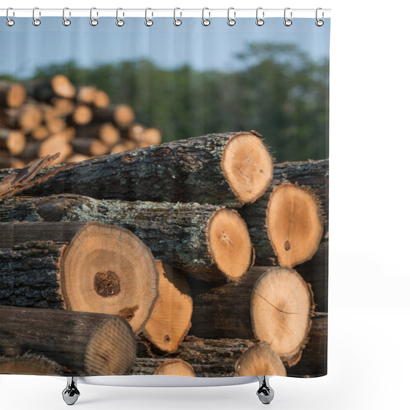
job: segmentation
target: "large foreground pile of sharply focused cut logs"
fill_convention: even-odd
[[[260,136],[240,132],[42,170],[17,195],[10,185],[21,171],[5,171],[0,296],[13,307],[2,309],[50,322],[119,316],[136,343],[122,374],[326,374],[327,164],[273,166]],[[31,324],[25,315],[21,323]],[[15,350],[7,343],[0,371],[35,361],[57,373],[113,374],[86,367],[84,352],[73,363],[30,339]],[[116,357],[128,357],[122,349]]]

